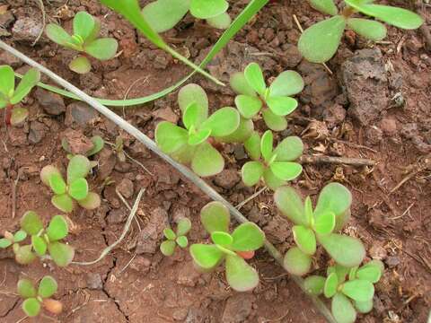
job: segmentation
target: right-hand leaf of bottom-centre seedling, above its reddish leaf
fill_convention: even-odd
[[[265,233],[255,223],[242,223],[232,233],[232,249],[235,251],[254,251],[263,246]]]

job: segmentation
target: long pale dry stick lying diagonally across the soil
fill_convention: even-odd
[[[123,130],[127,131],[130,135],[133,135],[136,137],[137,140],[139,140],[141,143],[145,144],[145,146],[153,151],[155,154],[160,156],[164,161],[169,162],[175,169],[180,171],[180,173],[189,179],[191,182],[193,182],[198,188],[200,188],[207,196],[211,197],[215,201],[219,201],[222,204],[224,204],[231,214],[233,214],[233,217],[238,221],[239,223],[246,223],[249,222],[247,218],[242,215],[233,205],[231,205],[229,202],[227,202],[223,196],[218,194],[214,188],[211,188],[209,185],[207,185],[207,182],[201,178],[198,177],[194,172],[189,170],[184,165],[181,165],[179,162],[174,161],[170,156],[163,153],[157,145],[154,143],[153,140],[148,138],[146,135],[144,135],[141,131],[136,129],[136,127],[133,127],[130,125],[126,120],[119,117],[117,114],[112,112],[110,109],[104,107],[100,102],[97,100],[94,100],[91,96],[88,94],[82,92],[79,90],[75,85],[68,83],[66,80],[58,76],[57,74],[51,72],[48,70],[48,68],[38,64],[34,60],[32,60],[30,57],[27,57],[23,55],[20,51],[10,47],[9,45],[5,44],[4,41],[0,40],[0,48],[3,48],[4,50],[8,51],[9,53],[13,54],[15,57],[18,57],[22,59],[26,64],[31,65],[32,67],[38,68],[40,72],[47,74],[48,77],[50,77],[52,80],[54,80],[56,83],[63,86],[65,89],[67,89],[69,92],[73,92],[76,96],[78,96],[81,100],[84,100],[87,102],[87,104],[91,105],[92,108],[98,110],[102,115],[104,115],[106,118],[109,118],[112,122],[117,124],[117,126],[121,127]],[[137,205],[136,205],[137,208]],[[131,222],[131,218],[128,219],[128,223]],[[269,254],[277,260],[277,263],[283,266],[283,256],[281,253],[268,241],[265,241],[265,248],[268,250]],[[323,301],[321,301],[319,298],[313,296],[311,293],[307,292],[303,285],[303,278],[298,276],[292,276],[292,280],[297,284],[303,292],[306,293],[316,306],[316,308],[321,312],[321,315],[327,319],[330,323],[337,323],[337,321],[333,318],[332,314],[330,313],[330,310],[325,306]]]

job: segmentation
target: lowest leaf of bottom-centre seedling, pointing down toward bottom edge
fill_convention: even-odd
[[[226,280],[237,292],[251,291],[259,284],[259,275],[252,266],[238,256],[226,257]]]

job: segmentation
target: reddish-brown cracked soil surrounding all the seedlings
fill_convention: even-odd
[[[41,22],[36,3],[0,0],[0,5],[9,4],[6,13],[0,14],[2,39],[94,96],[122,99],[127,92],[129,98],[145,96],[189,73],[110,13],[102,19],[102,32],[119,39],[122,54],[107,63],[94,62],[93,72],[79,77],[66,67],[72,53],[44,37],[31,47]],[[57,20],[66,28],[71,27],[70,18],[79,10],[101,18],[108,13],[95,0],[70,0],[67,5],[57,0],[44,3],[49,21]],[[237,1],[232,13],[239,13],[246,3]],[[391,4],[406,6],[400,1]],[[369,258],[381,258],[386,265],[376,285],[374,310],[358,321],[423,323],[431,305],[431,57],[423,36],[420,31],[390,27],[387,42],[374,45],[347,33],[337,57],[330,61],[334,72],[330,75],[321,65],[306,63],[298,55],[294,45],[300,33],[292,18],[294,13],[304,28],[321,19],[306,2],[268,4],[211,63],[209,70],[223,81],[251,61],[258,61],[268,77],[285,69],[297,70],[307,86],[301,94],[301,108],[281,135],[303,134],[309,154],[378,162],[373,169],[307,165],[295,186],[304,194],[316,196],[327,182],[338,180],[354,194],[353,217],[345,231],[364,241]],[[426,18],[429,24],[429,12]],[[198,59],[219,35],[219,31],[207,29],[200,22],[194,24],[187,17],[165,36],[182,53]],[[27,68],[4,52],[0,52],[0,64],[13,65],[20,71]],[[140,81],[134,83],[137,79]],[[199,76],[194,82],[208,90],[213,109],[233,104],[233,93],[227,87],[216,87]],[[172,93],[163,100],[118,112],[153,137],[160,119],[178,120],[175,98]],[[198,212],[208,202],[207,196],[91,109],[71,103],[48,92],[32,92],[24,102],[31,110],[29,120],[22,127],[0,127],[0,231],[16,230],[27,210],[39,212],[46,222],[57,214],[50,204],[48,188],[40,184],[39,171],[48,163],[66,165],[60,141],[71,128],[87,136],[102,135],[110,143],[122,135],[126,152],[153,174],[130,160],[119,162],[109,146],[99,154],[99,167],[91,183],[103,197],[102,206],[96,212],[77,209],[70,215],[72,234],[67,241],[77,250],[75,260],[97,258],[101,249],[119,237],[128,209],[116,196],[116,187],[124,195],[132,195],[129,204],[137,191],[145,188],[138,211],[142,231],[134,223],[120,247],[93,266],[61,269],[40,262],[17,266],[11,255],[0,253],[1,322],[13,323],[24,317],[15,294],[19,277],[38,280],[48,274],[57,278],[57,299],[64,303],[64,312],[56,319],[43,316],[26,321],[324,322],[303,292],[264,251],[251,261],[261,278],[259,287],[251,293],[230,290],[221,270],[198,275],[185,251],[163,258],[154,248],[158,237],[154,241],[144,233],[157,227],[159,221],[173,222],[187,215],[194,223],[189,240],[204,240]],[[241,147],[225,145],[224,155],[229,161],[226,170],[208,182],[237,204],[254,191],[242,186],[238,174],[244,162]],[[409,180],[391,193],[406,176]],[[277,214],[270,193],[245,205],[242,213],[259,223],[280,251],[292,244],[290,224]],[[326,266],[327,260],[322,256],[314,264],[315,269]]]

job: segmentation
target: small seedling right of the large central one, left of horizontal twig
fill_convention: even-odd
[[[273,135],[270,130],[260,138],[254,132],[244,144],[253,160],[242,166],[242,181],[246,186],[256,185],[260,179],[268,188],[277,189],[288,180],[296,179],[303,167],[295,161],[303,154],[303,142],[297,136],[289,136],[273,150]]]

